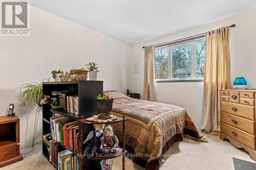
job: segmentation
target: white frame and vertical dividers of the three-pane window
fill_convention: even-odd
[[[162,50],[162,49],[168,49],[168,79],[155,79],[155,82],[202,82],[204,78],[196,78],[196,50],[195,50],[195,44],[200,41],[205,41],[205,38],[198,38],[195,40],[183,42],[180,44],[175,44],[175,45],[169,45],[169,46],[161,46],[161,47],[156,47],[156,50]],[[190,64],[191,64],[191,78],[187,79],[179,79],[175,80],[173,79],[173,74],[172,74],[172,49],[177,48],[180,46],[185,46],[185,45],[191,45],[191,55],[190,55]],[[155,70],[154,70],[155,71]]]

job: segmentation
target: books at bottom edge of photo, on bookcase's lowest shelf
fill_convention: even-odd
[[[58,153],[58,170],[78,170],[79,158],[69,150]]]

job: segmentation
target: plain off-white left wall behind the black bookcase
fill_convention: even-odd
[[[70,70],[88,62],[99,64],[104,90],[126,89],[126,59],[130,45],[31,7],[30,36],[0,36],[0,115],[14,103],[20,118],[20,143],[32,140],[35,108],[19,107],[24,83],[41,82],[53,69]],[[41,119],[36,139],[41,138]]]

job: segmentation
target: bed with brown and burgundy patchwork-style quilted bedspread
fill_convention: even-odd
[[[179,106],[132,99],[119,91],[105,91],[113,98],[112,114],[124,115],[125,149],[133,162],[145,169],[159,169],[163,154],[183,135],[201,141],[187,111]],[[122,143],[122,124],[113,124],[115,135]]]

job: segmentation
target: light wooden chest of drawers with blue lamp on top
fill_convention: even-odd
[[[256,90],[220,90],[220,139],[243,148],[256,161],[255,105]]]

